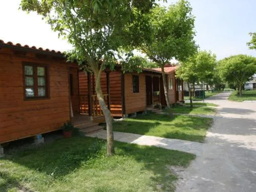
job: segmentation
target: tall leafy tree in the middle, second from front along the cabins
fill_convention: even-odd
[[[140,39],[142,44],[137,48],[162,69],[167,106],[170,106],[170,102],[164,66],[173,57],[179,61],[184,61],[196,50],[194,41],[195,17],[191,11],[190,4],[180,0],[169,6],[168,9],[156,6],[150,14],[141,18],[146,30]]]

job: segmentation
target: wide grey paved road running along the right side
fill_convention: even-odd
[[[219,104],[201,156],[180,173],[177,191],[256,191],[256,103],[206,99]]]

